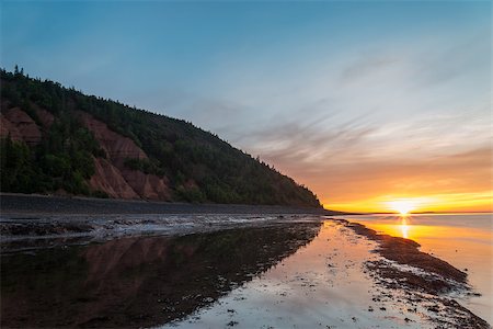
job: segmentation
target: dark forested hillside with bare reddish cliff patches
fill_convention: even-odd
[[[1,70],[1,191],[320,206],[193,124]]]

